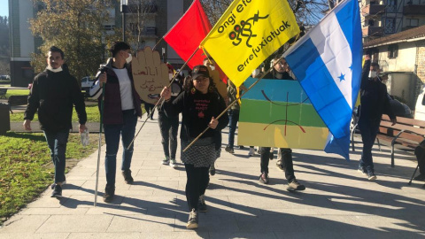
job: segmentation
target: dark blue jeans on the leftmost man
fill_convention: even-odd
[[[66,143],[68,142],[69,129],[59,132],[44,131],[50,149],[50,158],[55,166],[55,183],[65,181]]]

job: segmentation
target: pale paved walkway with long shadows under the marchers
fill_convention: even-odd
[[[225,143],[227,134],[225,129]],[[93,206],[95,152],[66,175],[63,199],[50,198],[47,189],[5,222],[0,238],[423,238],[423,182],[407,185],[416,166],[413,155],[398,150],[396,167],[390,168],[390,149],[374,148],[378,180],[367,181],[356,170],[361,143],[357,145],[352,162],[319,150],[294,150],[296,175],[307,187],[297,193],[286,191],[275,159],[271,183],[261,185],[259,156],[223,149],[206,192],[209,211],[200,213],[197,230],[188,230],[186,173],[182,165],[160,164],[158,122],[150,120],[135,141],[135,183],[125,184],[117,173],[118,196],[112,204],[102,201],[102,163],[98,204]]]

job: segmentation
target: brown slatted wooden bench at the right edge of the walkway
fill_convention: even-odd
[[[425,121],[397,117],[397,124],[394,126],[391,126],[391,124],[390,118],[383,115],[376,140],[379,150],[381,150],[379,140],[391,143],[391,167],[394,167],[394,145],[399,144],[411,149],[416,148],[424,140]]]

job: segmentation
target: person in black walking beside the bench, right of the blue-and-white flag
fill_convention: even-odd
[[[359,172],[367,175],[367,179],[376,179],[374,161],[372,158],[372,147],[379,130],[379,124],[383,113],[390,117],[392,125],[397,123],[396,115],[390,107],[387,87],[378,77],[379,65],[370,63],[370,56],[366,56],[365,65],[361,73],[360,84],[360,116],[359,129],[363,152],[359,160]]]

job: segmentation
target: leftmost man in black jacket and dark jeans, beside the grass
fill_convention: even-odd
[[[40,127],[50,148],[50,156],[55,165],[55,184],[51,197],[62,197],[65,183],[66,143],[72,128],[73,105],[80,122],[79,132],[87,127],[86,108],[78,81],[66,70],[64,51],[50,47],[47,56],[48,66],[35,76],[31,93],[28,96],[24,127],[31,130],[31,120],[38,110]]]

